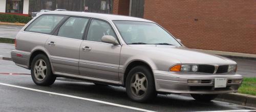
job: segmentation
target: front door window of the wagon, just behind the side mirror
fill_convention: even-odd
[[[111,35],[116,38],[114,31],[108,23],[93,19],[88,30],[87,40],[102,42],[101,38],[104,35]]]

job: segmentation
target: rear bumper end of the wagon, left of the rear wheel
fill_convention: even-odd
[[[12,61],[26,69],[29,69],[29,56],[30,54],[24,51],[12,50],[11,52]]]

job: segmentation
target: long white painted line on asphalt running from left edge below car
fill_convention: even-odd
[[[110,102],[105,102],[105,101],[100,101],[100,100],[94,100],[94,99],[89,99],[89,98],[83,98],[83,97],[77,97],[77,96],[72,96],[72,95],[66,95],[66,94],[59,94],[59,93],[54,93],[54,92],[42,91],[42,90],[39,90],[39,89],[28,88],[28,87],[17,86],[17,85],[11,85],[11,84],[1,83],[1,82],[0,82],[0,85],[6,85],[6,86],[11,86],[11,87],[16,87],[16,88],[22,88],[22,89],[27,89],[27,90],[30,90],[30,91],[47,93],[47,94],[52,94],[52,95],[59,95],[59,96],[64,96],[64,97],[70,97],[70,98],[76,98],[76,99],[81,99],[81,100],[87,100],[87,101],[103,103],[103,104],[108,104],[108,105],[113,105],[113,106],[119,106],[119,107],[123,107],[123,108],[139,110],[139,111],[152,111],[152,110],[136,108],[136,107],[132,107],[132,106],[125,106],[125,105],[120,105],[120,104],[110,103]]]

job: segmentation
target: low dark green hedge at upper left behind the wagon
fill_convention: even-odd
[[[27,24],[31,17],[14,14],[0,14],[0,21],[9,23],[24,23]]]

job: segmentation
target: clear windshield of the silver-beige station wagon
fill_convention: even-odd
[[[181,46],[168,32],[154,23],[114,21],[126,44],[160,44]]]

